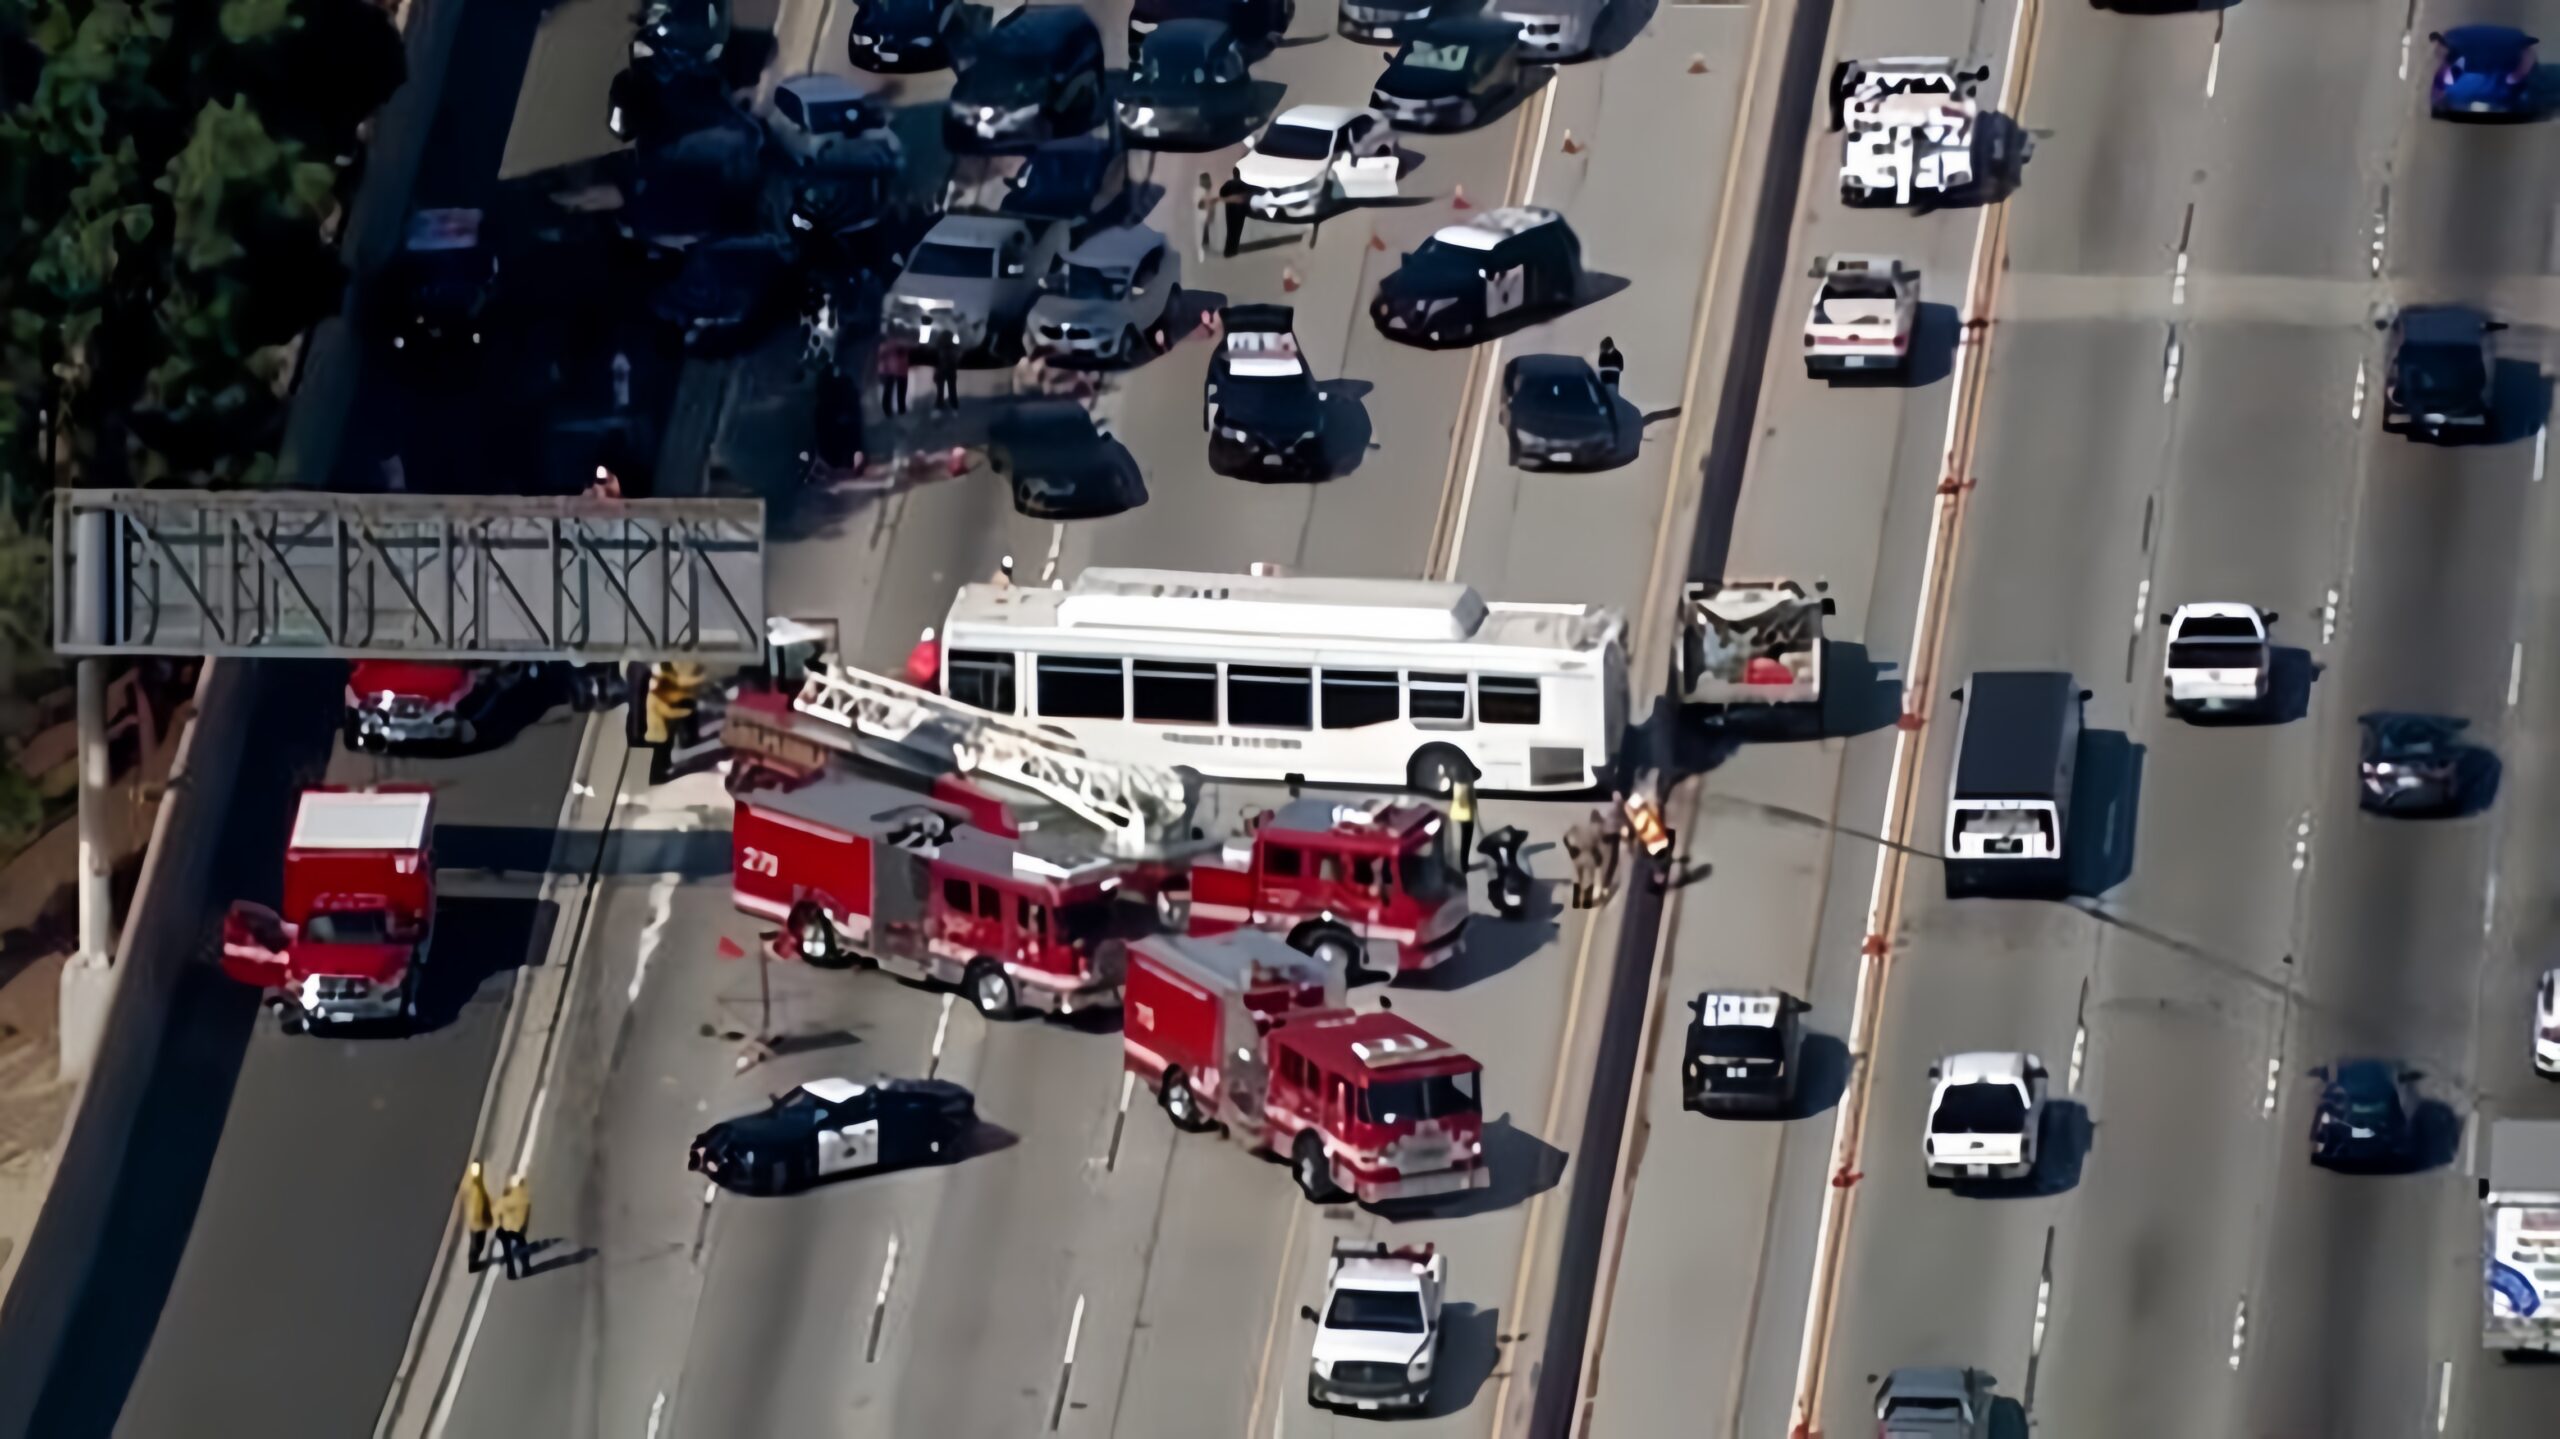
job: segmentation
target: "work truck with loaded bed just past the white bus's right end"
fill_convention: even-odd
[[[1792,579],[1692,581],[1672,694],[1708,720],[1820,714],[1823,620],[1836,612],[1828,594],[1805,594]]]

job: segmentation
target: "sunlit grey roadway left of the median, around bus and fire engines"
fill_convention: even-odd
[[[817,33],[814,54],[840,67],[845,13],[819,15],[783,10],[778,31]],[[1124,15],[1096,15],[1116,49]],[[1590,266],[1610,279],[1585,310],[1516,335],[1503,353],[1587,353],[1610,333],[1628,353],[1628,397],[1649,412],[1682,405],[1751,15],[1664,8],[1623,23],[1646,26],[1626,54],[1567,67],[1549,95],[1477,133],[1411,141],[1423,159],[1405,192],[1418,202],[1329,220],[1313,246],[1275,230],[1249,236],[1254,248],[1236,261],[1198,264],[1188,253],[1193,174],[1201,164],[1224,172],[1231,156],[1155,161],[1149,182],[1172,197],[1155,223],[1185,248],[1185,292],[1293,302],[1318,379],[1359,382],[1334,384],[1341,412],[1331,422],[1354,440],[1347,474],[1318,486],[1208,476],[1206,338],[1193,338],[1098,402],[1147,471],[1147,507],[1106,522],[1029,522],[983,471],[893,497],[809,494],[778,520],[773,609],[837,617],[847,648],[876,668],[893,668],[952,586],[993,574],[1004,556],[1024,584],[1088,563],[1280,561],[1316,574],[1457,574],[1505,599],[1641,612],[1677,415],[1656,417],[1623,471],[1516,476],[1498,433],[1472,438],[1485,422],[1472,387],[1492,356],[1408,351],[1364,315],[1395,256],[1457,215],[1459,187],[1472,207],[1528,195],[1564,207]],[[1298,33],[1257,74],[1285,82],[1285,102],[1357,102],[1380,51],[1334,38],[1329,8],[1300,13]],[[1690,72],[1692,54],[1705,74]],[[929,102],[940,82],[906,79],[901,105]],[[1661,182],[1649,146],[1664,123],[1697,136],[1697,166],[1679,184]],[[1567,128],[1580,154],[1564,151]],[[1004,384],[973,374],[978,402],[957,422],[932,422],[919,407],[909,443],[968,438]],[[771,412],[771,397],[740,387],[732,415]],[[714,440],[719,463],[750,479],[786,474],[794,448],[788,422],[732,420]],[[1211,822],[1234,824],[1267,801],[1219,786]],[[709,778],[632,807],[709,837],[724,827]],[[1487,822],[1531,827],[1531,863],[1549,878],[1562,855],[1544,845],[1572,814],[1487,807]],[[712,853],[686,848],[696,850]],[[1582,1147],[1572,1127],[1608,927],[1577,914],[1518,929],[1487,922],[1462,973],[1393,993],[1398,1011],[1487,1060],[1495,1119],[1495,1188],[1393,1224],[1306,1206],[1277,1165],[1175,1137],[1144,1093],[1124,1114],[1108,1029],[986,1027],[965,1004],[945,1024],[942,996],[878,976],[773,965],[776,1027],[799,1040],[737,1073],[730,1034],[758,1009],[758,973],[714,953],[719,937],[753,947],[755,929],[730,909],[717,863],[632,876],[599,899],[581,960],[591,991],[532,1180],[558,1216],[538,1219],[538,1239],[558,1239],[548,1252],[576,1262],[489,1306],[448,1434],[653,1424],[660,1434],[1334,1431],[1341,1424],[1303,1401],[1295,1311],[1318,1298],[1326,1242],[1341,1234],[1428,1239],[1452,1255],[1444,1393],[1418,1431],[1482,1434],[1498,1421],[1516,1431],[1526,1419],[1562,1193]],[[707,1206],[684,1173],[684,1145],[712,1116],[819,1073],[878,1070],[968,1083],[996,1139],[950,1168],[788,1201]]]

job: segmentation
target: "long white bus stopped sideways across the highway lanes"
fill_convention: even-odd
[[[1626,727],[1623,635],[1615,609],[1464,584],[1088,568],[960,586],[942,691],[1216,778],[1577,791]]]

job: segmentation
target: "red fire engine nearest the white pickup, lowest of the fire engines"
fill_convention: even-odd
[[[1400,1014],[1344,1009],[1341,970],[1308,960],[1252,929],[1129,945],[1129,1070],[1178,1127],[1285,1155],[1316,1203],[1492,1183],[1482,1065]]]

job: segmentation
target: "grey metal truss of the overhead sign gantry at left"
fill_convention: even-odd
[[[64,655],[755,661],[760,499],[192,494],[54,507]]]

